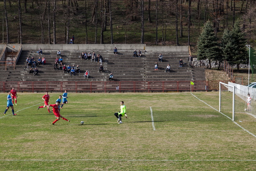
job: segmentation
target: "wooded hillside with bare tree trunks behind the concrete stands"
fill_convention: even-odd
[[[256,44],[255,0],[4,0],[2,43],[192,45],[204,24],[217,38],[240,20]]]

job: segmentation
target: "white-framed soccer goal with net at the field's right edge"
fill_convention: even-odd
[[[248,93],[251,100],[248,103]],[[256,88],[228,82],[219,83],[219,112],[232,121],[256,121]]]

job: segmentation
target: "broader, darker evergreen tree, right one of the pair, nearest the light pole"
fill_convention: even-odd
[[[247,63],[248,54],[246,51],[245,34],[240,28],[240,22],[236,21],[231,31],[225,30],[222,36],[221,49],[224,59],[229,64],[236,64],[239,71],[240,63]]]

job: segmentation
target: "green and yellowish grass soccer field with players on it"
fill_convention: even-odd
[[[0,170],[256,169],[256,122],[214,110],[218,92],[67,93],[60,114],[70,122],[55,125],[47,108],[37,110],[44,93],[18,93],[17,116],[3,115],[0,94]],[[49,95],[55,104],[62,93]]]

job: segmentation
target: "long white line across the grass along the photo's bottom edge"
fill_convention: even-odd
[[[147,159],[137,159],[137,160],[128,160],[128,159],[54,159],[54,160],[44,160],[44,159],[27,159],[27,160],[9,160],[9,159],[5,159],[5,160],[0,160],[0,161],[181,161],[181,162],[191,162],[191,161],[255,161],[256,160],[247,160],[247,159],[241,159],[241,160],[231,160],[231,159],[223,159],[223,160],[200,160],[200,159],[194,159],[194,160],[147,160]]]

